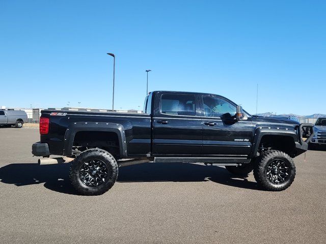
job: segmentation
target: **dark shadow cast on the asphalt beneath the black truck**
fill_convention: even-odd
[[[78,195],[69,182],[69,167],[70,164],[9,164],[0,168],[0,182],[18,187],[44,183],[44,187],[49,190]],[[231,187],[262,190],[256,182],[248,181],[247,177],[232,175],[225,168],[215,166],[145,163],[119,168],[117,182],[212,181]]]

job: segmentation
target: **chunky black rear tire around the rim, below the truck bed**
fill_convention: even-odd
[[[88,162],[89,160],[93,159],[104,162],[108,169],[108,175],[106,176],[105,182],[97,187],[89,187],[85,185],[80,179],[79,174],[79,170],[84,162]],[[110,190],[115,184],[118,178],[118,164],[115,158],[107,151],[99,148],[88,149],[83,151],[83,153],[79,154],[76,159],[72,161],[70,165],[69,178],[71,185],[78,193],[87,196],[102,195]]]

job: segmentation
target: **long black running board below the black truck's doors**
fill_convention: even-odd
[[[247,158],[154,158],[154,163],[219,163],[219,164],[240,164],[249,163]]]

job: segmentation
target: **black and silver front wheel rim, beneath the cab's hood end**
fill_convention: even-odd
[[[270,161],[266,167],[267,179],[276,185],[283,184],[289,177],[290,168],[282,159]]]

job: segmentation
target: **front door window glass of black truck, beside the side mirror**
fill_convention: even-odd
[[[220,98],[203,97],[203,103],[206,117],[221,117],[226,113],[234,116],[236,113],[235,106]]]

